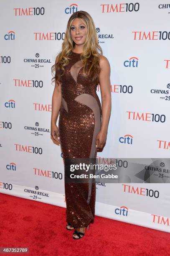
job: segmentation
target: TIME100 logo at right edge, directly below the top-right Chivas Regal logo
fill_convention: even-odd
[[[170,31],[132,31],[134,40],[170,40]]]

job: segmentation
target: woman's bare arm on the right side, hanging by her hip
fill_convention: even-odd
[[[107,129],[112,103],[110,90],[110,64],[108,59],[105,56],[101,56],[99,65],[101,68],[99,74],[99,84],[101,90],[102,120],[100,132],[96,136],[96,147],[103,148],[107,138]]]

